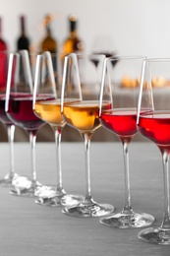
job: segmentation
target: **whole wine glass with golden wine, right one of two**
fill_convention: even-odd
[[[97,71],[94,65],[96,60]],[[85,142],[85,199],[79,205],[65,207],[63,210],[63,213],[73,217],[100,217],[114,211],[111,205],[96,203],[90,191],[89,145],[92,134],[101,126],[98,119],[99,91],[96,84],[100,81],[103,60],[103,55],[72,53],[65,57],[61,112],[66,123],[77,129]]]

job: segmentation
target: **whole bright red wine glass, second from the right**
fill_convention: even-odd
[[[142,70],[141,56],[106,58],[100,92],[99,119],[102,126],[115,133],[123,145],[125,172],[125,202],[120,213],[102,218],[101,224],[111,227],[130,228],[152,224],[154,218],[134,212],[130,195],[129,144],[137,134],[137,102]],[[129,82],[129,88],[127,83]],[[105,109],[104,104],[109,105]]]

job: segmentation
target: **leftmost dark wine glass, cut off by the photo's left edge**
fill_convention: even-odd
[[[9,52],[7,50],[0,51],[0,120],[7,127],[8,142],[10,146],[10,170],[3,178],[0,179],[0,184],[5,186],[11,185],[13,180],[18,177],[18,174],[15,171],[14,163],[15,124],[8,118],[5,112],[8,57]]]

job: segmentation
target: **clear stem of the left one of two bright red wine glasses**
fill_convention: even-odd
[[[124,155],[124,171],[125,171],[125,203],[123,208],[124,214],[131,214],[133,212],[131,207],[131,195],[130,195],[130,174],[129,174],[129,141],[123,140],[123,155]]]

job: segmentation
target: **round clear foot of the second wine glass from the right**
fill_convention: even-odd
[[[100,219],[101,224],[118,228],[134,228],[153,224],[155,218],[148,214],[131,214],[119,213],[106,218]]]

